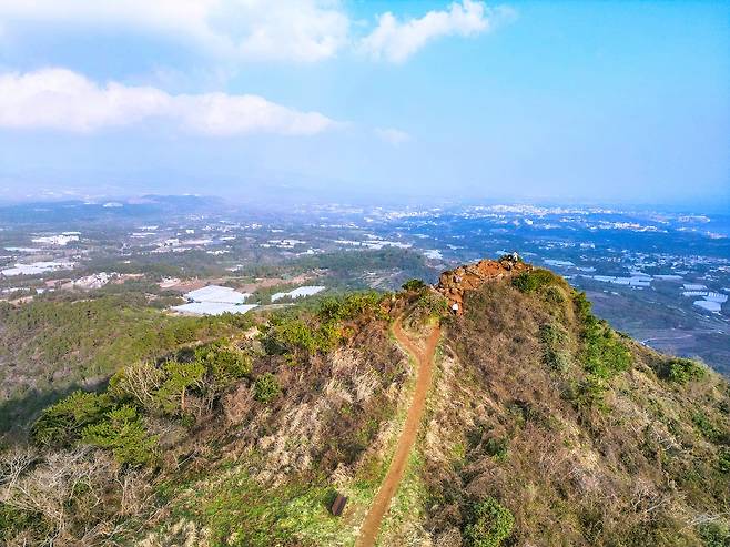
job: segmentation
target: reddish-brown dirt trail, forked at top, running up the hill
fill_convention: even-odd
[[[391,500],[393,499],[393,496],[395,496],[395,493],[398,489],[398,485],[401,484],[401,479],[403,478],[403,473],[405,472],[406,464],[408,463],[410,449],[416,442],[416,436],[420,426],[420,418],[423,417],[424,408],[426,407],[426,395],[428,394],[428,389],[430,387],[430,378],[434,372],[434,352],[436,351],[436,345],[438,344],[440,328],[438,326],[434,328],[434,331],[428,336],[426,348],[423,352],[416,347],[416,345],[403,331],[401,317],[398,317],[393,325],[393,334],[395,334],[397,341],[416,361],[416,389],[413,394],[413,401],[410,402],[410,407],[408,408],[406,423],[403,427],[401,438],[398,439],[398,445],[395,448],[395,454],[393,455],[393,460],[391,462],[388,473],[385,475],[385,479],[383,480],[379,490],[375,495],[371,510],[365,517],[363,527],[359,530],[359,538],[355,544],[357,547],[372,547],[375,545],[375,539],[377,538],[377,534],[381,530],[383,516],[388,510]]]

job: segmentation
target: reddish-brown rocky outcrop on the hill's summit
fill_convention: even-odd
[[[497,261],[484,260],[444,272],[438,277],[436,291],[448,298],[449,310],[460,315],[464,313],[466,291],[474,291],[486,282],[513,277],[531,269],[533,266],[523,262],[517,253],[506,254]]]

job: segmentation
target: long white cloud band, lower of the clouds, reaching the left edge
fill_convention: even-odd
[[[98,85],[65,69],[0,74],[0,128],[92,132],[151,120],[206,135],[313,135],[338,124],[257,95],[172,95],[152,87]]]

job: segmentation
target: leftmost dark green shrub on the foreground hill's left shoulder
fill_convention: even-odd
[[[85,426],[101,419],[111,407],[107,394],[72,393],[41,413],[31,428],[31,438],[43,446],[70,446]]]

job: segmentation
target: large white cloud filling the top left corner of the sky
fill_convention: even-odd
[[[3,22],[126,29],[264,61],[333,57],[349,32],[349,18],[335,0],[0,0]]]

